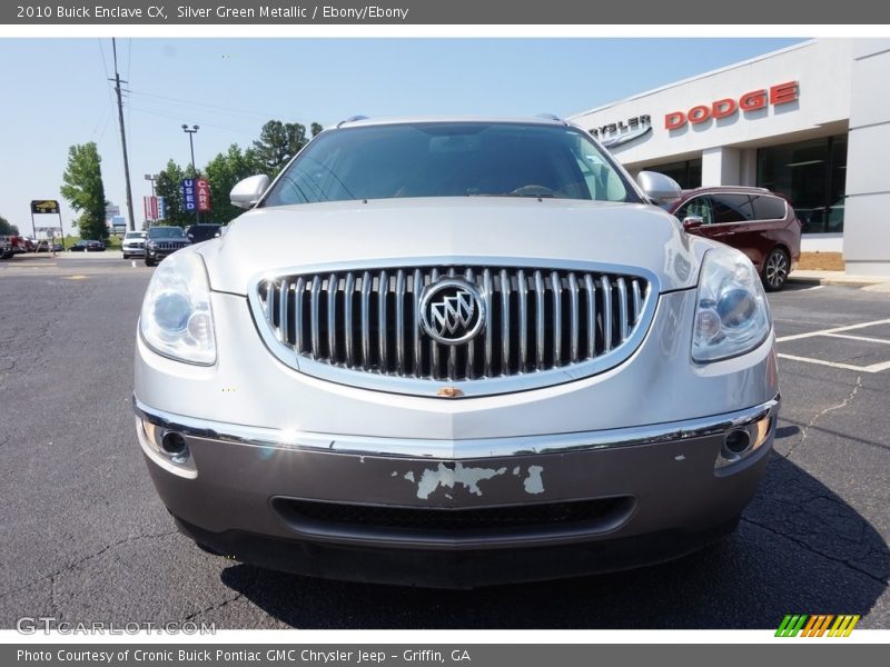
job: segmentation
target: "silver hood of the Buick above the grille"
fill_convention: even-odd
[[[646,205],[536,198],[340,201],[250,210],[202,243],[214,290],[246,295],[260,273],[301,268],[580,261],[640,267],[661,291],[693,287],[701,243]],[[326,267],[327,268],[327,267]]]

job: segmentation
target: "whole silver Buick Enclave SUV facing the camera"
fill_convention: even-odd
[[[731,532],[779,409],[763,286],[555,118],[352,119],[138,323],[136,430],[206,550],[471,588],[636,567]]]

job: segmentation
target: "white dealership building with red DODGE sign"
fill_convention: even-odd
[[[570,119],[632,172],[789,197],[803,250],[890,276],[890,39],[818,39]]]

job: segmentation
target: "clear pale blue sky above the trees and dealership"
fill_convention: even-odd
[[[144,175],[200,168],[269,119],[327,127],[362,113],[568,116],[800,39],[119,39],[134,209]],[[126,213],[110,39],[0,39],[0,215],[30,233],[59,199],[68,148],[96,141]],[[66,230],[73,212],[65,206]]]

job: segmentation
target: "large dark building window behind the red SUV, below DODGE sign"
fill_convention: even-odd
[[[758,149],[758,186],[788,197],[804,233],[843,231],[847,135]]]

